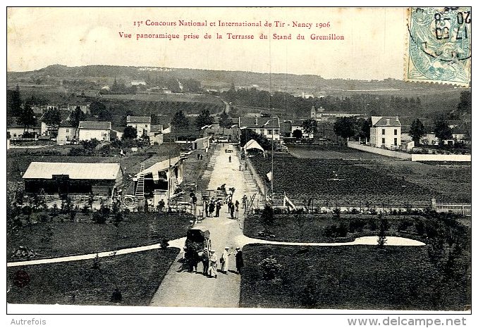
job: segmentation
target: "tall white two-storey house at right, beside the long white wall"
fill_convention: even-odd
[[[374,147],[398,149],[402,134],[402,125],[398,117],[372,116],[370,127],[370,145]]]

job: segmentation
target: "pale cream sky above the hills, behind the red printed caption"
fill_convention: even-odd
[[[147,26],[147,20],[176,26]],[[179,26],[180,20],[207,26]],[[219,20],[262,26],[219,27]],[[272,27],[264,27],[266,20]],[[204,38],[206,33],[212,38]],[[218,33],[223,39],[216,39]],[[261,33],[268,39],[259,39]],[[273,39],[274,33],[291,39]],[[8,8],[7,69],[102,64],[401,79],[406,33],[404,8]],[[184,39],[185,34],[199,39]],[[255,38],[232,39],[233,34]],[[312,34],[343,40],[311,39]]]

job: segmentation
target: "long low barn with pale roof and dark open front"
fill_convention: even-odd
[[[111,196],[122,180],[118,163],[32,162],[23,175],[27,194]]]

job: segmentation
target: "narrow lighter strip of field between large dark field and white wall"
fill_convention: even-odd
[[[396,160],[388,156],[381,156],[376,153],[357,151],[347,146],[324,145],[324,146],[300,146],[290,145],[288,150],[292,156],[297,158],[317,159],[344,159],[344,160]]]

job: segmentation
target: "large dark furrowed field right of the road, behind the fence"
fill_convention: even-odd
[[[317,206],[424,206],[432,196],[427,187],[405,177],[386,175],[352,160],[319,160],[287,156],[274,158],[274,193],[286,192],[291,200],[304,203],[310,198]],[[251,162],[269,182],[271,159],[256,156]],[[280,196],[278,196],[280,198]]]

